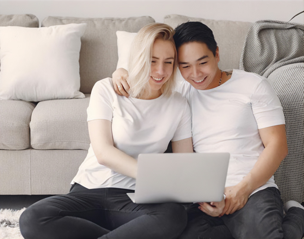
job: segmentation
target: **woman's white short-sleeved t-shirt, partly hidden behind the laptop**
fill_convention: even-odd
[[[115,93],[111,78],[95,83],[87,121],[112,121],[114,146],[137,159],[140,153],[163,153],[170,141],[190,138],[191,111],[180,93],[153,100],[126,98]],[[92,144],[71,184],[93,188],[135,189],[135,179],[98,163]]]

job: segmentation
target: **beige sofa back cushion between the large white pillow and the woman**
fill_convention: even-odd
[[[42,21],[42,26],[68,23],[87,23],[81,37],[80,91],[90,94],[96,81],[112,77],[118,61],[116,31],[138,32],[143,26],[155,22],[148,16],[131,18],[76,18],[52,17]]]

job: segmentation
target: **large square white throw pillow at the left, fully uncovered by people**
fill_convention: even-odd
[[[0,27],[0,99],[84,98],[79,52],[86,25]]]

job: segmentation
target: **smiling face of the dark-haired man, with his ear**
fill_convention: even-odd
[[[214,56],[206,43],[189,42],[178,48],[178,67],[181,75],[195,89],[209,90],[219,85],[221,72],[217,66],[219,49]]]

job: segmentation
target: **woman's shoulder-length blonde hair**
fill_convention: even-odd
[[[151,23],[139,30],[131,45],[129,58],[130,96],[140,98],[144,91],[150,92],[148,81],[151,75],[153,44],[156,39],[168,40],[174,48],[173,72],[162,86],[163,94],[170,95],[174,85],[174,73],[177,68],[177,52],[173,39],[174,29],[163,23]]]

